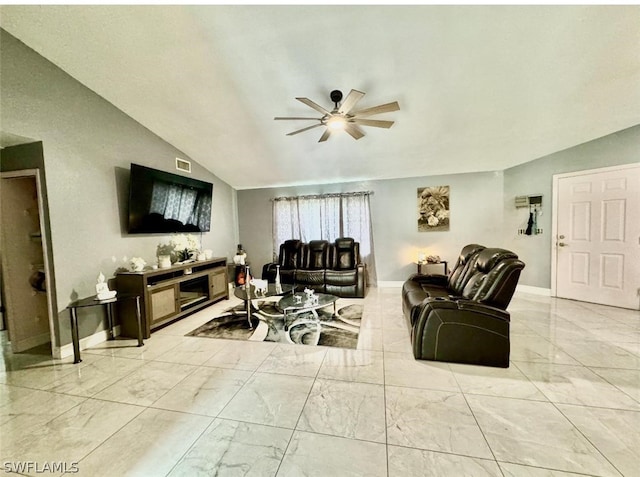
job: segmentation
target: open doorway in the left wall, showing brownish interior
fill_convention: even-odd
[[[38,169],[0,175],[3,318],[14,353],[55,344],[51,273]]]

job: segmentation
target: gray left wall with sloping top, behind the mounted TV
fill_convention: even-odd
[[[175,171],[190,159],[122,111],[0,30],[0,125],[4,132],[42,141],[61,344],[69,343],[66,305],[95,294],[123,257],[155,263],[170,236],[129,236],[123,229],[131,162]],[[188,121],[189,118],[185,118]],[[192,177],[213,182],[212,231],[203,248],[231,257],[237,243],[235,190],[197,163]],[[81,320],[81,337],[103,329],[99,316]]]

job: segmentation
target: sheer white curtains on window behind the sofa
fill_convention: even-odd
[[[360,243],[368,282],[376,286],[370,192],[278,197],[273,200],[273,256],[289,239],[328,240],[351,237]]]

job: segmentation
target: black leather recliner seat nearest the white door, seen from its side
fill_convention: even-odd
[[[416,359],[509,367],[506,311],[524,263],[502,248],[465,246],[449,276],[412,275],[402,287]]]

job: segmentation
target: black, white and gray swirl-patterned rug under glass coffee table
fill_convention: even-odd
[[[358,346],[362,305],[341,307],[338,301],[336,316],[333,316],[333,306],[317,310],[317,318],[311,312],[289,316],[286,329],[284,316],[274,302],[258,301],[257,307],[259,311],[254,311],[251,316],[251,327],[244,305],[240,304],[225,310],[222,315],[187,333],[186,336],[353,349]]]

